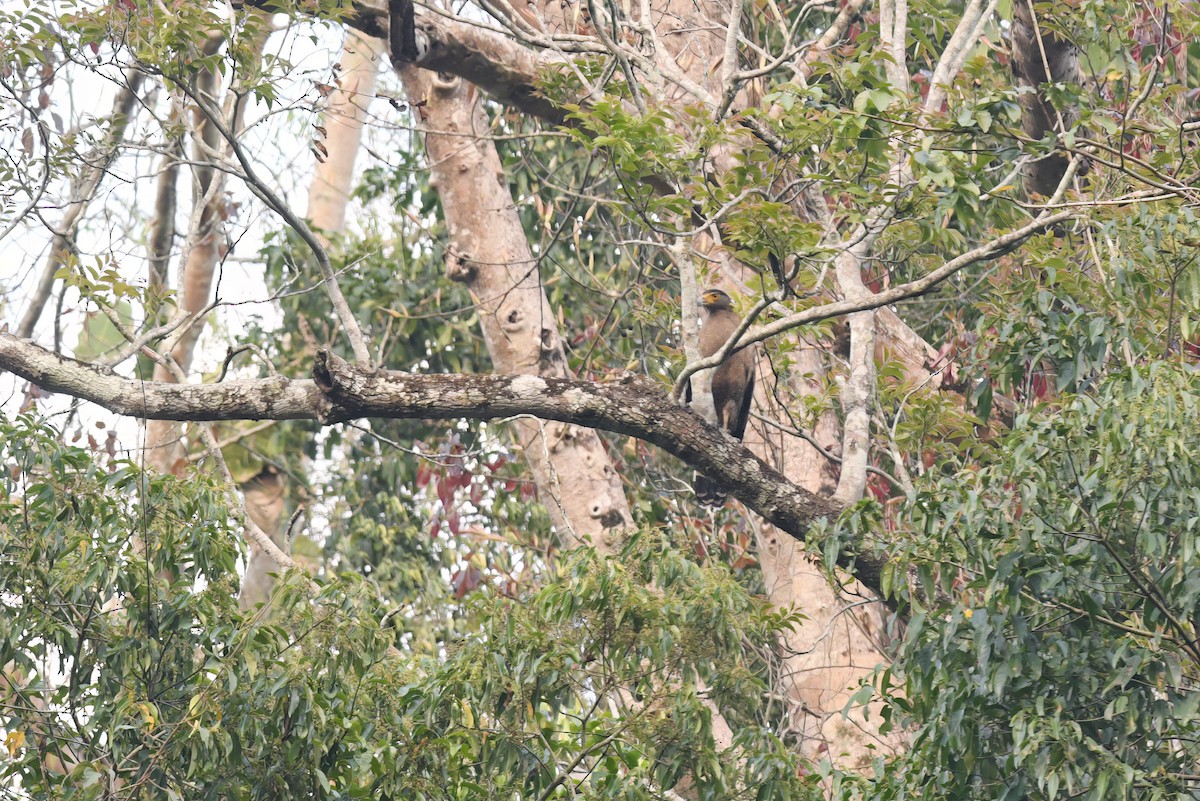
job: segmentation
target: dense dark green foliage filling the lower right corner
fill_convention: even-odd
[[[1193,797],[1198,426],[1195,371],[1152,363],[923,488],[888,542],[912,614],[881,685],[913,747],[858,793]]]

